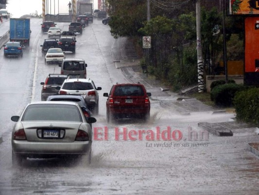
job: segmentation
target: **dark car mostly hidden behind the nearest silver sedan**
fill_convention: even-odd
[[[86,100],[80,95],[52,95],[46,101],[72,101],[78,103],[85,117],[91,117],[91,111],[88,109]]]

